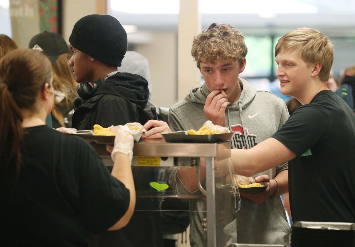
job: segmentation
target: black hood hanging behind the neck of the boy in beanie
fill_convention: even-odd
[[[139,75],[117,72],[99,84],[93,96],[99,94],[119,96],[144,107],[149,98],[148,82]]]

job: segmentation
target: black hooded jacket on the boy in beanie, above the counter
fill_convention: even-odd
[[[103,127],[128,122],[145,124],[157,119],[155,107],[149,103],[148,82],[141,76],[117,72],[99,84],[93,97],[73,114],[72,127],[92,130],[95,124]]]

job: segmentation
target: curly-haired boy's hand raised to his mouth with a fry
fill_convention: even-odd
[[[203,113],[213,124],[225,126],[225,109],[229,105],[223,90],[213,90],[206,98]]]

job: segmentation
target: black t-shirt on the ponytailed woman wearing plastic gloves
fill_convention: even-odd
[[[26,131],[13,200],[0,195],[0,242],[88,246],[89,232],[103,232],[125,214],[129,190],[83,139],[44,125]]]

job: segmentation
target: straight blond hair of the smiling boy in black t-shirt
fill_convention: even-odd
[[[279,39],[275,47],[275,56],[283,50],[300,51],[307,64],[320,62],[322,65],[319,78],[323,82],[329,79],[332,69],[334,48],[328,37],[312,28],[297,28]]]

